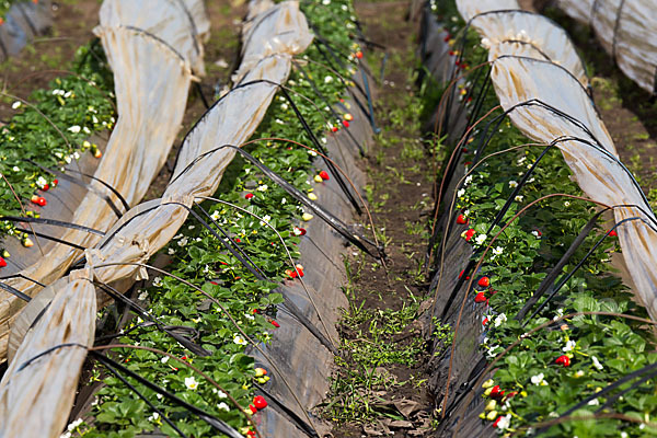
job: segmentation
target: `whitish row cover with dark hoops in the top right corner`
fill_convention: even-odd
[[[589,24],[621,70],[642,89],[657,92],[657,0],[558,0]]]

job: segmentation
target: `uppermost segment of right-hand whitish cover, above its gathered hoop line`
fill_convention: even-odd
[[[488,59],[515,55],[558,64],[585,87],[589,80],[566,31],[543,15],[528,11],[489,11],[470,21],[485,39]]]

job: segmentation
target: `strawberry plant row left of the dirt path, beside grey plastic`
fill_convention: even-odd
[[[358,48],[353,45],[348,32],[348,27],[354,26],[350,2],[308,2],[302,9],[315,31],[332,44],[349,47],[350,50]],[[346,55],[347,60],[348,57]],[[339,74],[347,78],[353,74],[357,66],[355,59],[353,57],[344,67],[338,67]],[[287,87],[293,91],[289,94],[298,111],[323,143],[326,141],[324,132],[331,129],[326,119],[331,120],[332,126],[339,124],[325,106],[346,97],[346,88],[351,82],[341,81],[333,71],[319,64],[325,60],[316,45],[303,54],[301,61],[306,61],[303,71],[293,69]],[[319,100],[309,80],[314,81],[327,103]],[[313,181],[315,175],[322,181],[334,176],[314,168],[315,152],[287,141],[268,140],[273,137],[312,146],[310,136],[283,93],[274,99],[254,135],[254,139],[265,140],[253,142],[245,149],[304,193],[312,193],[318,184]],[[251,342],[268,342],[280,326],[276,321],[277,306],[283,302],[278,285],[299,281],[304,270],[313,269],[312,266],[303,267],[296,262],[290,264],[287,252],[293,258],[300,256],[296,245],[300,237],[306,234],[302,222],[316,219],[284,188],[240,155],[227,169],[216,197],[222,203],[204,203],[197,208],[199,216],[205,217],[200,208],[207,211],[266,279],[258,279],[224,249],[212,232],[191,217],[162,250],[162,256],[170,260],[166,270],[172,276],[158,275],[151,285],[135,293],[139,302],[148,304],[151,318],[163,326],[183,327],[184,333],[194,334],[189,341],[206,354],[195,354],[158,325],[140,316],[120,327],[112,316],[112,311],[106,310],[103,321],[106,321],[106,327],[119,331],[117,342],[122,344],[158,348],[193,364],[218,382],[242,408],[231,404],[226,393],[217,391],[209,382],[166,357],[130,348],[113,349],[114,357],[124,367],[227,422],[243,435],[253,436],[247,417],[268,404],[262,396],[254,397],[254,383],[266,385],[270,379],[281,377],[267,367],[256,368],[253,358],[247,355],[247,348]],[[210,227],[214,226],[210,223]],[[283,242],[272,228],[278,231]],[[200,288],[220,302],[228,313],[206,295],[191,289],[173,275]],[[148,407],[126,382],[116,377],[105,377],[106,371],[102,367],[94,372],[95,379],[102,379],[104,387],[97,392],[89,420],[76,425],[73,430],[77,434],[85,437],[134,437],[143,431],[161,430],[177,436],[177,428],[187,436],[215,436],[207,423],[184,407],[158,396],[139,381],[127,378],[149,403],[165,413],[166,418]],[[193,378],[194,381],[191,380]]]

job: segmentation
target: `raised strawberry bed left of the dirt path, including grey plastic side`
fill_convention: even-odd
[[[290,3],[277,8],[284,7]],[[103,284],[101,272],[99,290],[112,293],[117,306],[101,312],[96,345],[125,346],[106,356],[93,354],[103,365],[94,362],[87,374],[90,380],[71,418],[76,420],[68,427],[71,436],[254,436],[251,418],[262,436],[316,436],[321,429],[310,411],[327,389],[333,323],[343,304],[339,253],[349,240],[378,253],[366,238],[341,223],[355,208],[345,192],[358,208],[362,204],[356,195],[360,188],[354,189],[336,169],[359,187],[362,176],[355,157],[371,135],[369,115],[359,110],[368,106],[368,93],[360,91],[366,85],[348,79],[357,72],[356,78],[364,78],[359,47],[349,36],[355,26],[351,4],[318,2],[302,9],[324,43],[295,59],[290,79],[244,145],[247,154],[238,153],[226,174],[219,173],[219,200],[192,209],[171,242],[149,262],[163,266],[163,272],[150,270],[154,278],[127,293],[132,302]],[[333,54],[331,60],[322,49]],[[214,111],[222,102],[251,87],[249,78],[210,108],[185,146],[215,120]],[[212,149],[196,158],[184,146],[178,164],[188,161],[191,169],[221,148],[215,140],[208,142]],[[323,149],[336,164],[319,161]],[[186,170],[176,168],[170,187],[181,175],[187,176]],[[200,183],[212,186],[218,181]],[[158,199],[137,207],[108,232],[107,241],[149,208],[164,204]],[[138,318],[124,316],[124,310]],[[97,387],[102,388],[93,395]]]

